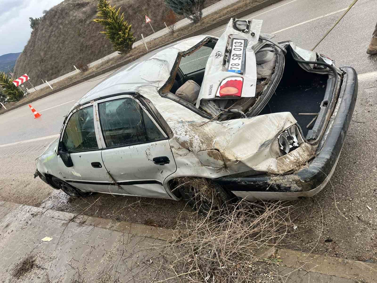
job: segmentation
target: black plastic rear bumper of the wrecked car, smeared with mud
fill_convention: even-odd
[[[351,67],[341,68],[345,71],[339,98],[342,98],[327,138],[324,135],[323,146],[307,168],[295,174],[283,176],[260,176],[215,179],[219,185],[230,191],[265,192],[307,192],[320,186],[336,165],[351,122],[356,104],[358,81],[356,71]]]

